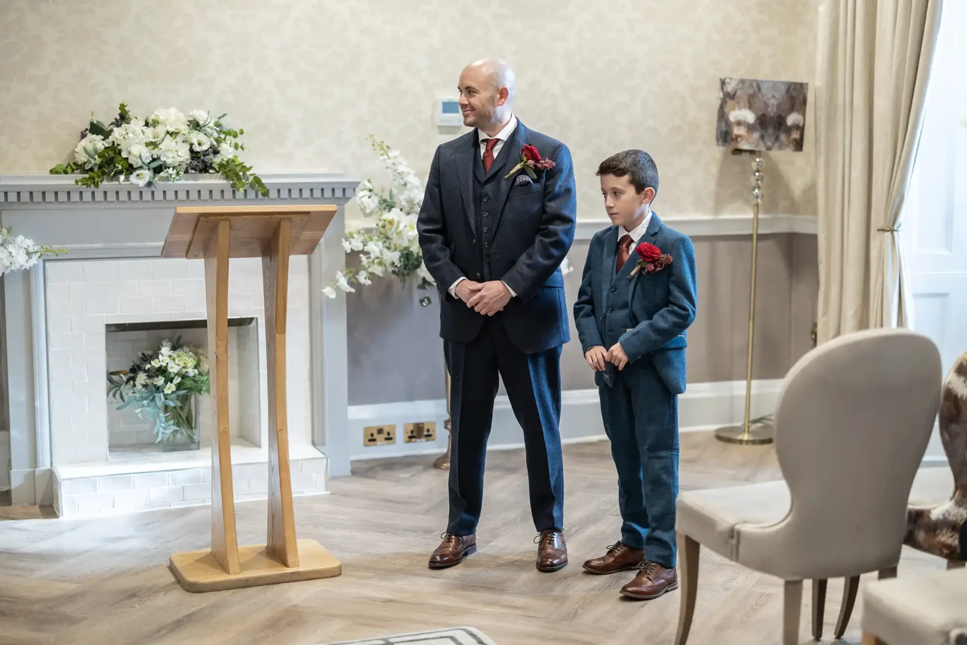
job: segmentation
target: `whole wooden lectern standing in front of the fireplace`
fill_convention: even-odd
[[[212,548],[175,553],[169,568],[187,591],[333,577],[342,565],[314,540],[296,540],[285,396],[285,317],[289,255],[315,249],[333,205],[180,206],[163,257],[205,260],[211,377]],[[261,257],[269,388],[269,529],[264,545],[239,547],[235,534],[228,433],[228,258]]]

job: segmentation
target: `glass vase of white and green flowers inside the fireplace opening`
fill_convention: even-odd
[[[107,374],[108,396],[117,409],[133,406],[154,422],[156,443],[187,443],[197,447],[197,395],[208,394],[209,376],[203,355],[181,344],[181,337],[161,342],[154,352],[142,352],[130,369]]]

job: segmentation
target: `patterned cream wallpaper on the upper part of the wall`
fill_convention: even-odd
[[[3,0],[0,172],[67,160],[92,110],[107,121],[127,101],[228,112],[256,171],[380,179],[373,132],[423,173],[464,132],[437,131],[434,99],[499,55],[517,115],[571,148],[579,217],[603,216],[595,168],[631,147],[658,162],[663,215],[747,213],[747,159],[715,145],[718,77],[811,82],[815,14],[816,0]],[[806,152],[768,161],[767,212],[814,213],[808,118]]]

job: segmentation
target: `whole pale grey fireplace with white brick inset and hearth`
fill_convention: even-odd
[[[84,516],[210,501],[207,401],[201,450],[161,453],[145,440],[150,425],[127,410],[116,412],[106,397],[106,371],[130,364],[159,337],[204,338],[197,328],[206,317],[203,263],[159,257],[174,208],[196,201],[339,207],[315,252],[291,263],[286,360],[293,492],[325,492],[328,475],[348,474],[345,299],[328,300],[321,289],[344,267],[343,205],[357,182],[323,173],[261,177],[268,198],[209,178],[154,190],[130,184],[90,190],[70,177],[0,176],[0,222],[39,244],[69,250],[2,283],[13,503],[53,504],[62,516]],[[235,496],[264,498],[268,424],[258,258],[231,261],[229,317],[240,325],[230,337],[237,374],[230,387],[238,413],[230,420]]]

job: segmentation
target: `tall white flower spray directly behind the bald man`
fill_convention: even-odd
[[[423,205],[423,182],[398,150],[384,141],[369,135],[373,150],[390,171],[391,186],[388,192],[377,191],[370,180],[356,190],[356,203],[365,218],[376,218],[375,225],[347,233],[342,240],[346,253],[360,253],[359,269],[337,272],[331,286],[322,291],[329,298],[336,298],[337,289],[355,293],[353,284],[372,284],[372,276],[383,277],[389,272],[401,282],[414,276],[420,279],[418,288],[433,289],[436,282],[426,270],[423,251],[417,236],[417,217]],[[571,265],[565,258],[561,271],[571,273]],[[432,302],[429,296],[420,299],[424,307]]]

